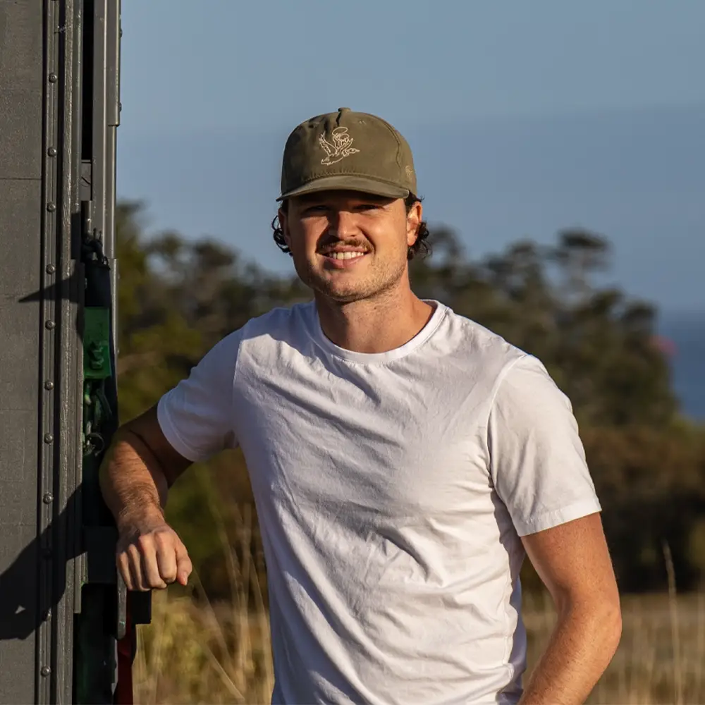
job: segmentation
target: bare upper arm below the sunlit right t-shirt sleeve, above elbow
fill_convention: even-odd
[[[582,601],[618,603],[619,594],[599,513],[522,537],[558,610]]]

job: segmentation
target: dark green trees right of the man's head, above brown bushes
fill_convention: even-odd
[[[439,235],[434,249],[441,264],[412,263],[419,296],[443,301],[539,357],[582,422],[625,426],[673,418],[653,307],[591,281],[606,268],[606,240],[568,231],[553,247],[520,242],[474,263],[462,257],[452,233]]]

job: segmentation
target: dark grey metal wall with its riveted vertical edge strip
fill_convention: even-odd
[[[71,701],[77,27],[80,0],[0,0],[0,704]]]

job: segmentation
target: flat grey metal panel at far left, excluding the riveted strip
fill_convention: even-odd
[[[44,3],[0,0],[0,703],[37,701],[45,488]],[[55,212],[54,212],[55,213]],[[49,214],[53,215],[53,214]],[[46,318],[46,321],[45,321]],[[42,577],[45,577],[42,571]],[[41,676],[39,676],[41,678]]]

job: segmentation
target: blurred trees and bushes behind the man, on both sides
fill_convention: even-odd
[[[118,207],[123,421],[251,317],[310,298],[295,276],[269,274],[215,240],[148,238],[142,214],[140,204]],[[451,231],[436,228],[432,247],[431,257],[411,264],[417,295],[537,355],[572,401],[623,591],[663,589],[666,552],[678,589],[698,587],[705,576],[705,432],[680,415],[654,307],[599,285],[608,241],[571,230],[550,247],[522,241],[473,262]],[[223,537],[245,551],[241,514],[251,503],[239,453],[195,467],[171,493],[168,518],[209,594],[228,594]],[[257,532],[247,550],[262,570]],[[526,578],[529,586],[537,580],[530,569]]]

